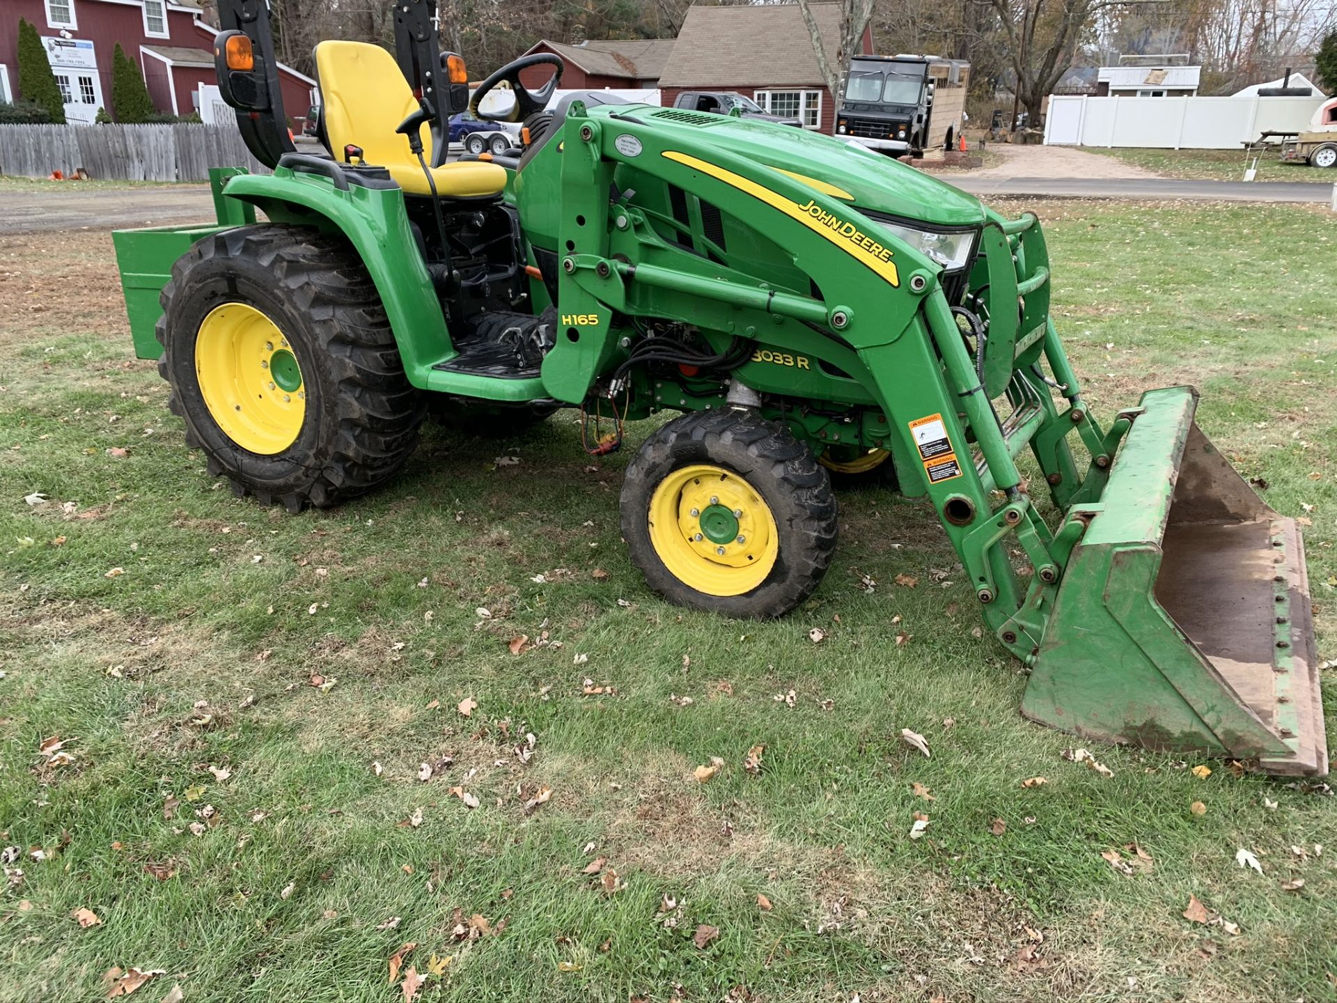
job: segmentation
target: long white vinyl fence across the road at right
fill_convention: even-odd
[[[1044,142],[1238,150],[1267,131],[1305,128],[1324,98],[1080,98],[1054,95]]]

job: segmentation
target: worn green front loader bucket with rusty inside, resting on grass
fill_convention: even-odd
[[[1328,770],[1305,554],[1194,423],[1150,391],[1072,550],[1023,713],[1099,741]]]

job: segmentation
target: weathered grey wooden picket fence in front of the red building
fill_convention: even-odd
[[[118,181],[209,181],[210,167],[265,169],[233,123],[0,126],[0,174]]]

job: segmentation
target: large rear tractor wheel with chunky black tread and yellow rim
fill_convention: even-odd
[[[162,305],[158,372],[171,384],[168,408],[186,421],[186,444],[205,451],[209,472],[227,477],[235,495],[279,502],[291,512],[308,504],[325,508],[386,480],[417,445],[422,395],[405,377],[376,286],[345,242],[303,227],[225,230],[172,265]],[[209,345],[226,308],[253,320],[262,314],[281,350],[266,361],[261,356],[269,342],[257,349],[254,337],[238,341],[230,353],[235,372],[221,374],[229,352],[211,354]],[[287,365],[299,370],[295,377],[279,372],[285,352]],[[267,369],[261,378],[295,378],[291,393],[282,396],[283,386],[267,382],[275,400],[266,403],[266,385],[246,382],[253,362],[257,372]],[[285,407],[301,412],[285,416]],[[251,435],[247,420],[270,412],[286,431],[269,439]]]

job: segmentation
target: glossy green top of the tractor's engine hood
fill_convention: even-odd
[[[670,142],[681,134],[682,151],[710,159],[711,148],[833,185],[853,195],[857,209],[921,221],[929,226],[981,226],[985,210],[975,195],[848,139],[767,122],[682,112],[643,106],[610,108],[635,116]],[[600,115],[604,108],[592,108]]]

